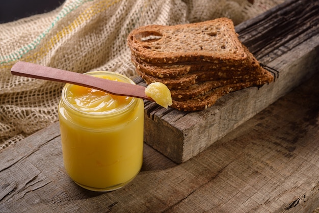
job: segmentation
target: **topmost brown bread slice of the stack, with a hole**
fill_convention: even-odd
[[[127,43],[138,60],[151,64],[192,61],[223,61],[229,65],[248,63],[233,22],[228,18],[172,26],[142,26],[128,35]]]

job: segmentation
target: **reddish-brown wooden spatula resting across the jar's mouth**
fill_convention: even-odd
[[[116,82],[109,79],[41,66],[29,62],[17,62],[12,66],[11,73],[24,77],[33,77],[94,88],[113,95],[130,96],[154,101],[152,98],[145,95],[145,87],[143,86]]]

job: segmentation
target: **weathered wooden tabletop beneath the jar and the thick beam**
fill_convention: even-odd
[[[52,124],[0,152],[0,212],[312,212],[319,206],[318,82],[316,72],[184,163],[145,144],[139,175],[109,193],[67,176],[59,124]]]

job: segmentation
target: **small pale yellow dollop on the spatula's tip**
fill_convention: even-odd
[[[153,98],[153,100],[164,108],[172,105],[172,95],[167,86],[160,82],[149,84],[145,89],[145,95]]]

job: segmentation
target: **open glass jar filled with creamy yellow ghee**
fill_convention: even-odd
[[[113,72],[86,74],[134,84]],[[66,84],[59,121],[64,167],[81,187],[112,191],[139,173],[143,162],[142,99]]]

